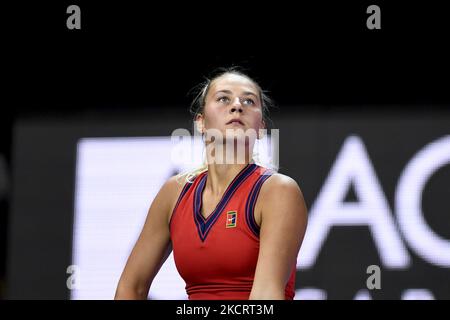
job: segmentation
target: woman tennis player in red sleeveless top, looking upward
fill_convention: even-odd
[[[294,298],[307,209],[292,178],[253,159],[268,101],[253,79],[235,69],[199,90],[194,120],[204,136],[206,164],[161,187],[116,299],[147,299],[172,250],[191,300]]]

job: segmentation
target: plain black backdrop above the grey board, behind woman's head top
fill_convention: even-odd
[[[280,104],[448,102],[445,10],[432,3],[76,2],[5,10],[5,94],[15,111],[185,105],[214,67],[239,64]],[[12,108],[14,107],[14,108]]]

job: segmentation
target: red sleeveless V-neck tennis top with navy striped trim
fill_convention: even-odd
[[[247,300],[259,252],[255,203],[273,172],[246,165],[205,219],[201,208],[207,174],[186,183],[173,210],[169,227],[175,264],[190,300]],[[285,288],[287,300],[294,298],[295,273],[296,265]]]

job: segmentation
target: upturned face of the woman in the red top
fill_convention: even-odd
[[[225,136],[227,129],[265,127],[258,88],[253,82],[236,74],[215,79],[205,98],[204,113],[197,117],[200,131],[218,129]]]

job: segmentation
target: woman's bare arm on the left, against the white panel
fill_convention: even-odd
[[[147,297],[154,277],[172,251],[169,218],[181,188],[182,185],[172,177],[154,198],[120,277],[116,298],[126,298],[130,292],[135,292],[142,299]]]

